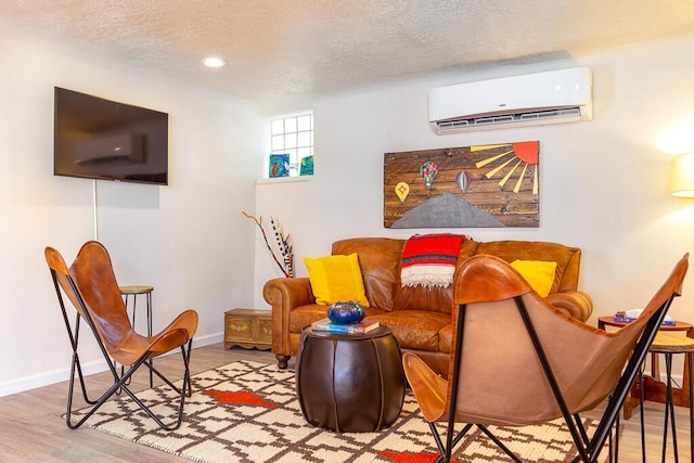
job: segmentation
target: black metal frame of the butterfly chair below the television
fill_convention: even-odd
[[[165,430],[175,430],[178,429],[181,426],[181,422],[183,419],[183,404],[185,402],[185,396],[190,397],[191,396],[191,376],[190,376],[190,369],[189,369],[189,364],[190,364],[190,356],[191,356],[191,348],[192,348],[192,339],[190,339],[188,342],[188,347],[181,346],[181,356],[183,358],[183,365],[184,365],[184,376],[183,376],[183,385],[181,388],[177,387],[176,385],[174,385],[174,383],[171,383],[168,378],[166,378],[158,370],[156,370],[154,368],[154,365],[152,364],[152,351],[146,351],[137,362],[134,362],[132,365],[130,365],[130,368],[128,368],[127,371],[123,372],[120,375],[118,375],[118,372],[116,370],[115,363],[112,361],[111,356],[108,356],[108,351],[106,350],[106,347],[104,346],[103,342],[101,340],[101,338],[99,337],[99,331],[97,330],[95,323],[89,312],[89,310],[86,307],[86,304],[79,293],[79,290],[77,288],[77,285],[75,284],[75,281],[73,280],[73,278],[67,274],[67,281],[69,282],[70,288],[74,292],[74,294],[77,297],[77,301],[80,305],[80,309],[81,312],[85,314],[85,320],[87,322],[87,324],[89,325],[89,327],[91,329],[92,333],[94,334],[94,337],[97,339],[97,343],[99,344],[99,348],[101,350],[101,352],[103,353],[104,358],[106,359],[106,364],[108,365],[108,369],[111,370],[111,374],[113,375],[114,378],[114,384],[106,389],[106,391],[104,391],[98,399],[92,400],[89,398],[88,394],[87,394],[87,386],[85,383],[85,376],[82,374],[82,369],[81,369],[81,363],[79,361],[79,353],[78,353],[78,344],[79,344],[79,329],[80,329],[80,320],[82,319],[82,317],[79,314],[79,312],[77,312],[77,317],[75,320],[75,327],[73,329],[73,326],[69,323],[69,318],[67,316],[67,311],[65,309],[65,303],[63,299],[63,294],[61,292],[61,287],[60,287],[60,283],[57,281],[57,276],[55,274],[55,270],[51,269],[51,276],[53,278],[53,284],[55,286],[55,293],[57,294],[57,299],[61,306],[61,311],[63,313],[63,321],[65,322],[65,327],[67,330],[67,335],[69,337],[69,342],[70,345],[73,347],[73,361],[70,364],[70,373],[69,373],[69,388],[68,388],[68,395],[67,395],[67,412],[65,415],[65,422],[67,424],[67,426],[70,429],[76,429],[79,426],[81,426],[92,414],[94,414],[94,412],[97,412],[97,410],[99,410],[101,408],[101,406],[103,406],[114,394],[120,394],[120,391],[125,391],[128,396],[130,396],[130,398],[140,407],[140,409],[142,409],[147,415],[150,415],[152,417],[152,420],[154,420],[154,422],[163,429]],[[177,414],[177,419],[172,424],[164,424],[164,422],[156,415],[154,414],[154,412],[152,412],[150,410],[150,408],[144,404],[144,402],[142,402],[142,400],[140,400],[134,393],[132,393],[129,388],[128,388],[128,384],[130,383],[130,377],[132,376],[132,374],[142,365],[145,365],[151,373],[156,374],[162,381],[164,381],[164,383],[166,383],[172,390],[175,390],[178,395],[179,395],[179,406],[178,406],[178,414]],[[92,408],[77,422],[77,423],[73,423],[72,421],[72,415],[73,415],[73,396],[74,396],[74,389],[75,389],[75,371],[77,371],[77,376],[79,377],[79,384],[81,387],[81,391],[82,391],[82,397],[85,399],[85,401],[87,403],[89,403],[90,406],[92,406]]]

